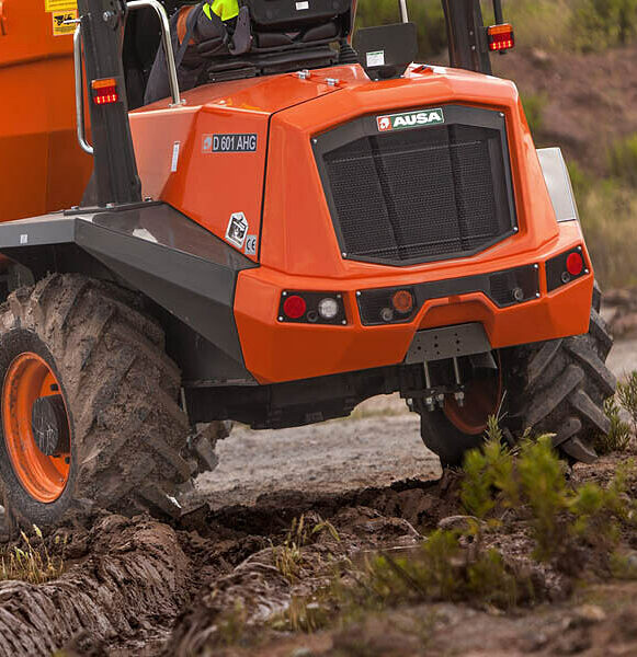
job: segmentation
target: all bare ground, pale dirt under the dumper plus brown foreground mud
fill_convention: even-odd
[[[617,376],[636,356],[627,335],[611,358]],[[103,514],[90,529],[59,530],[68,540],[60,578],[0,584],[0,655],[637,655],[634,583],[593,581],[573,595],[553,586],[543,604],[507,614],[437,603],[310,634],[276,629],[273,619],[325,586],[334,563],[409,550],[460,512],[453,481],[441,480],[418,416],[396,395],[346,420],[236,427],[218,452],[218,470],[185,496],[194,510],[181,521]],[[607,477],[622,459],[578,466],[577,476]],[[295,584],[276,555],[302,515],[329,520],[339,540],[323,532],[304,548]]]

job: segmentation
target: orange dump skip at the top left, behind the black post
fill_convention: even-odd
[[[44,0],[0,1],[1,221],[78,205],[91,175],[76,139],[72,33],[55,36],[57,20]]]

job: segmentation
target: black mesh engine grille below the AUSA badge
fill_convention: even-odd
[[[312,139],[344,258],[409,266],[467,257],[517,231],[503,114],[443,112],[442,125],[380,132],[372,115]]]

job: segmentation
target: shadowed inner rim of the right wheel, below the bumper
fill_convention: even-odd
[[[502,374],[498,368],[497,371],[474,379],[467,384],[463,406],[453,395],[447,395],[444,413],[463,434],[478,436],[487,430],[489,416],[498,414],[501,402]]]

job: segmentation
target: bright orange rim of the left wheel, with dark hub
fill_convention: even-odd
[[[34,425],[34,410],[43,404],[60,410],[57,433],[53,425],[37,419]],[[7,451],[23,488],[37,502],[54,503],[69,481],[70,423],[61,385],[37,354],[25,351],[9,366],[2,388],[2,426]],[[45,446],[43,439],[47,437],[50,440]]]

